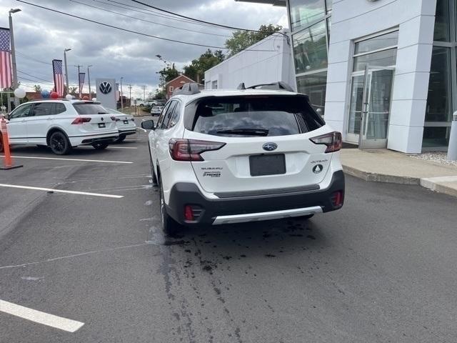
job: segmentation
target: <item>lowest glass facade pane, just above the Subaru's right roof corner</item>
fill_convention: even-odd
[[[323,116],[326,104],[327,72],[298,76],[298,93],[309,96],[309,102]]]

